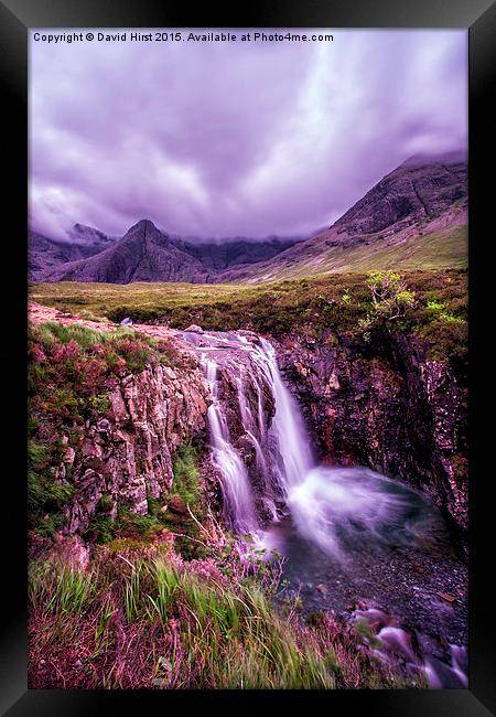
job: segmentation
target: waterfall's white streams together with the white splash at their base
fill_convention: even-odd
[[[233,446],[225,407],[218,397],[218,376],[223,368],[215,354],[219,351],[224,354],[224,346],[249,354],[249,361],[239,362],[236,375],[231,376],[242,428],[254,446],[266,485],[271,481],[277,484],[300,535],[341,561],[347,559],[364,537],[369,545],[380,545],[411,544],[423,536],[433,516],[428,504],[413,491],[365,468],[315,464],[300,408],[284,386],[276,352],[268,341],[254,341],[238,334],[207,334],[206,340],[211,344],[202,360],[213,397],[207,415],[212,460],[223,479],[226,517],[231,527],[250,532],[254,537],[270,544],[270,529],[265,534],[260,531],[249,473]],[[268,430],[263,418],[263,388],[276,406]],[[250,408],[248,389],[256,392],[256,411]],[[274,503],[270,496],[263,500],[277,520]]]

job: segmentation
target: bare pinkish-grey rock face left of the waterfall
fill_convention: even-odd
[[[148,497],[171,488],[176,448],[205,430],[208,400],[200,366],[187,372],[147,366],[125,376],[109,395],[108,418],[86,426],[79,449],[67,449],[57,469],[58,480],[69,473],[75,488],[65,509],[65,532],[84,533],[103,495],[110,497],[108,515],[115,516],[120,504],[148,513]]]

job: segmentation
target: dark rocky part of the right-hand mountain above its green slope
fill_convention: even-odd
[[[379,180],[327,229],[290,247],[271,261],[258,265],[256,269],[231,271],[226,280],[268,281],[299,274],[344,270],[342,261],[336,266],[336,260],[343,258],[339,256],[343,252],[353,254],[360,245],[374,246],[364,249],[360,258],[365,259],[365,254],[373,255],[374,250],[399,249],[427,235],[454,231],[466,226],[466,223],[467,174],[461,154],[431,159],[414,156]],[[466,255],[463,237],[455,252],[459,257]],[[400,260],[401,253],[397,253]],[[353,269],[349,270],[359,270],[356,257],[352,265]]]

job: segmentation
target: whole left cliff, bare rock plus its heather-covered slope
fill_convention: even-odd
[[[205,435],[202,366],[166,329],[147,335],[34,302],[30,323],[34,524],[61,511],[57,495],[68,534],[119,507],[147,514],[150,499],[171,489],[177,449]]]

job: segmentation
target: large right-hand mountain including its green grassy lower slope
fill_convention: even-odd
[[[463,266],[466,223],[465,157],[419,154],[382,178],[327,229],[269,261],[225,272],[223,280]]]

